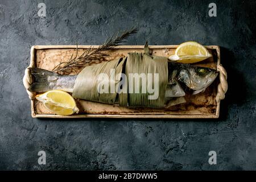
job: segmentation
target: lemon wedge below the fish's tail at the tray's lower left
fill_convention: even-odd
[[[67,92],[61,90],[51,90],[43,94],[38,94],[35,98],[43,102],[44,106],[55,114],[71,115],[79,112],[74,98]]]

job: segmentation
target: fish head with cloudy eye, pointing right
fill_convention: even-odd
[[[215,69],[196,67],[192,65],[180,69],[177,80],[183,82],[192,90],[205,90],[218,75]],[[195,92],[194,94],[199,93]]]

